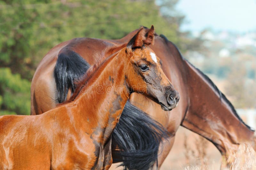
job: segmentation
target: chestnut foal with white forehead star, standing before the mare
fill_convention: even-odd
[[[148,45],[154,27],[110,48],[71,101],[36,116],[0,117],[0,169],[108,169],[111,134],[132,92],[174,108],[178,92]],[[78,85],[78,86],[79,86]]]

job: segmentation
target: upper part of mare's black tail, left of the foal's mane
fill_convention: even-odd
[[[74,81],[82,78],[89,67],[84,58],[74,51],[66,50],[58,55],[54,76],[59,103],[66,100],[68,88],[71,87],[72,93],[74,92],[76,89]]]

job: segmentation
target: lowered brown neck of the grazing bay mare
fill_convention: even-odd
[[[182,126],[206,137],[228,156],[238,145],[249,142],[255,147],[253,131],[236,115],[220,91],[186,61],[190,106]]]

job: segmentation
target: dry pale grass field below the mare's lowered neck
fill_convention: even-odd
[[[233,160],[231,170],[256,170],[256,152],[243,143],[236,153],[230,155]],[[216,170],[221,167],[221,155],[217,148],[203,137],[180,127],[169,155],[160,170]],[[111,169],[118,164],[113,164]]]

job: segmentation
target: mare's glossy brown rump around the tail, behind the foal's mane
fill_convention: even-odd
[[[118,42],[117,42],[118,43]],[[75,38],[53,47],[39,63],[31,82],[31,115],[42,114],[58,104],[54,68],[61,51],[75,51],[90,65],[95,63],[95,54],[112,45],[111,41],[92,38]],[[69,93],[70,95],[70,93]],[[69,96],[70,97],[70,96]],[[68,99],[68,98],[67,98]]]

